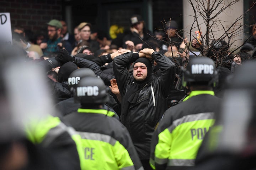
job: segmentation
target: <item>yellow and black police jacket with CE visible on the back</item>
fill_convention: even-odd
[[[83,169],[143,169],[127,129],[107,110],[79,108],[64,119],[81,136]]]

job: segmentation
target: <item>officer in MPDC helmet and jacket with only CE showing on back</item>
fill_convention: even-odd
[[[74,98],[81,103],[81,108],[64,118],[81,136],[82,167],[86,170],[142,170],[127,129],[102,108],[109,99],[103,80],[82,78]]]

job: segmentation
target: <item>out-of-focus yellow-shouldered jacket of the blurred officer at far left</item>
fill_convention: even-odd
[[[47,115],[40,119],[32,118],[32,121],[26,124],[26,134],[32,143],[46,148],[51,154],[58,157],[57,164],[60,169],[81,169],[80,136],[58,117]]]

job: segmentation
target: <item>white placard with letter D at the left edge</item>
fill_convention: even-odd
[[[0,43],[1,45],[12,45],[10,13],[0,13]]]

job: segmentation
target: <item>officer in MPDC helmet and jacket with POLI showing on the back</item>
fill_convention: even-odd
[[[183,72],[183,86],[189,95],[164,113],[151,143],[150,165],[160,169],[187,169],[194,165],[204,135],[214,124],[220,102],[213,86],[218,81],[214,62],[207,57],[189,61]]]

